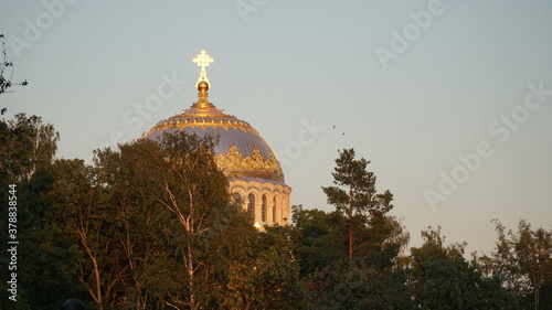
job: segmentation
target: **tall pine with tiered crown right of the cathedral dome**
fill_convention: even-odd
[[[388,215],[392,194],[378,194],[369,161],[343,150],[333,183],[322,188],[336,211],[293,207],[301,276],[314,309],[410,309],[405,272],[397,255],[408,239],[400,220]]]

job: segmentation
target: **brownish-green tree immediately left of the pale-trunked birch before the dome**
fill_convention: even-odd
[[[120,309],[159,309],[164,304],[157,297],[170,290],[177,270],[174,244],[170,237],[170,211],[152,203],[141,190],[146,154],[159,151],[155,143],[140,141],[119,146],[119,150],[96,150],[96,178],[103,184],[106,203],[113,205],[113,238],[121,250],[124,266],[116,303]],[[164,279],[164,280],[163,280]]]

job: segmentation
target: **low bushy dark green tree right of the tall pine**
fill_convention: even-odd
[[[485,278],[464,258],[466,243],[445,246],[440,227],[422,232],[424,244],[411,249],[410,287],[416,308],[514,309],[513,296],[497,277]]]

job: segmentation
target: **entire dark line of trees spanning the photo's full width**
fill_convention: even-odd
[[[468,261],[440,227],[410,235],[375,191],[369,161],[343,150],[322,188],[332,212],[293,206],[293,225],[256,229],[230,203],[216,137],[166,135],[54,160],[40,117],[0,121],[0,181],[18,185],[18,302],[0,309],[550,309],[552,233],[495,221],[497,248]],[[8,205],[7,191],[0,201]],[[6,212],[0,224],[6,225]],[[7,239],[7,229],[0,231]],[[403,255],[401,255],[403,254]],[[0,263],[8,264],[7,252]],[[8,268],[0,276],[8,278]]]

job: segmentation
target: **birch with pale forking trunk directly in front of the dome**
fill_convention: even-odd
[[[155,143],[141,141],[141,143]],[[185,270],[185,295],[183,299],[166,300],[168,307],[200,309],[205,302],[209,286],[209,269],[204,267],[203,236],[212,227],[214,210],[229,204],[227,181],[214,162],[213,137],[200,138],[184,132],[166,133],[159,148],[146,153],[148,163],[139,173],[144,182],[140,190],[152,202],[159,203],[174,216],[179,228],[173,227],[180,240],[178,259]],[[180,306],[179,306],[180,304]]]

